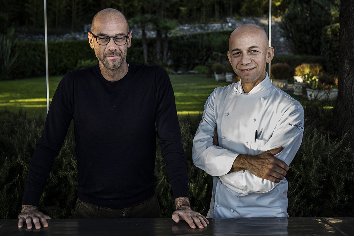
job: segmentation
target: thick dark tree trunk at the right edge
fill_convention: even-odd
[[[354,1],[341,0],[339,15],[339,78],[334,115],[339,135],[348,132],[354,144]]]

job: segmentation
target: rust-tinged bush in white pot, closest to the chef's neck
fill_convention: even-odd
[[[290,66],[286,63],[275,63],[272,65],[270,72],[272,83],[281,90],[286,90],[288,77],[291,78]]]

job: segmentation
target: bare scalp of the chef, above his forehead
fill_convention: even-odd
[[[232,50],[230,49],[230,46],[232,45],[234,40],[245,36],[256,38],[259,45],[264,48],[269,47],[268,36],[262,27],[256,24],[243,24],[231,33],[229,39],[229,50]]]

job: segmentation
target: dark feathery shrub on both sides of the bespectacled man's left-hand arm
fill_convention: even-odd
[[[0,122],[0,217],[16,219],[21,212],[24,184],[35,144],[44,128],[44,117],[28,118],[2,111]],[[71,218],[77,198],[77,168],[74,129],[70,126],[40,200],[40,208],[55,205],[51,218]]]

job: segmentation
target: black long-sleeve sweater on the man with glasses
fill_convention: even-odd
[[[155,124],[173,196],[188,197],[169,76],[159,66],[129,63],[128,73],[114,82],[104,79],[99,65],[63,77],[30,162],[24,205],[38,206],[72,119],[80,200],[124,208],[154,195]]]

